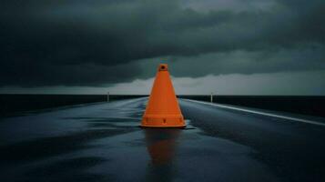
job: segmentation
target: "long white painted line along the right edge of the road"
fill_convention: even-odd
[[[325,126],[325,123],[320,123],[320,122],[317,122],[317,121],[302,119],[302,118],[298,118],[298,117],[280,116],[280,115],[275,115],[275,114],[270,114],[270,113],[265,113],[265,112],[260,112],[260,111],[249,110],[249,109],[245,109],[245,108],[219,105],[219,104],[215,104],[215,103],[208,103],[208,102],[203,102],[203,101],[198,101],[198,100],[190,100],[190,99],[183,99],[183,100],[187,100],[187,101],[190,101],[190,102],[196,102],[196,103],[203,104],[203,105],[208,105],[208,106],[218,106],[218,107],[221,107],[221,108],[228,108],[228,109],[232,109],[232,110],[244,111],[244,112],[263,115],[263,116],[274,116],[274,117],[278,117],[278,118],[282,118],[282,119],[288,119],[288,120],[292,120],[292,121],[298,121],[298,122],[308,123],[308,124],[317,125],[317,126]]]

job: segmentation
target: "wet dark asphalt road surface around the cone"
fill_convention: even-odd
[[[325,181],[325,126],[180,100],[187,128],[142,129],[146,102],[2,118],[1,181]]]

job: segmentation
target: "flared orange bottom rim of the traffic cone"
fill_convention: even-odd
[[[144,116],[143,127],[185,127],[183,116]]]

